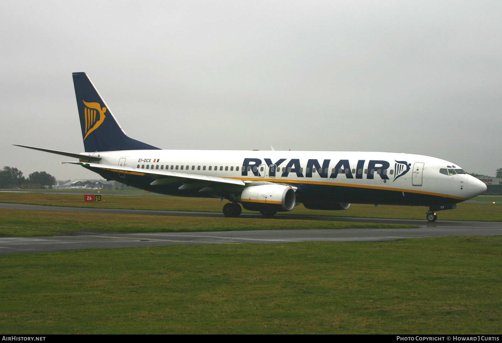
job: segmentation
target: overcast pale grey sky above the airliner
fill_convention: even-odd
[[[396,151],[502,167],[500,1],[2,1],[0,167],[99,178],[72,72],[164,149]],[[69,158],[71,160],[71,158]]]

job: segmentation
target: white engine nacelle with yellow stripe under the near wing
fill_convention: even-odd
[[[284,185],[261,185],[244,188],[242,207],[249,211],[291,211],[295,207],[295,191]]]

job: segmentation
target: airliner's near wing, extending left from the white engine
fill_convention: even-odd
[[[118,165],[109,165],[109,164],[100,164],[100,163],[87,163],[87,162],[61,162],[61,163],[72,163],[72,164],[80,164],[83,166],[88,166],[91,168],[99,168],[110,171],[117,171],[124,174],[133,174],[133,175],[144,175],[150,178],[157,179],[152,182],[150,185],[166,185],[172,183],[182,183],[183,186],[179,187],[180,190],[183,189],[191,189],[198,187],[225,187],[228,188],[231,186],[232,188],[242,189],[245,187],[247,183],[252,183],[252,181],[241,181],[234,179],[226,179],[226,178],[218,178],[218,177],[210,177],[205,175],[197,175],[197,174],[184,174],[184,173],[176,173],[175,171],[164,171],[157,169],[142,169],[142,168],[133,168],[126,166],[118,166]]]

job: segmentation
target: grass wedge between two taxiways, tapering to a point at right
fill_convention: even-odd
[[[68,235],[72,231],[196,232],[285,229],[418,228],[416,225],[52,212],[0,209],[0,237]]]

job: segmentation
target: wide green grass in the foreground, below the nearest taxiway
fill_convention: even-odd
[[[502,237],[0,255],[0,333],[502,331]]]

